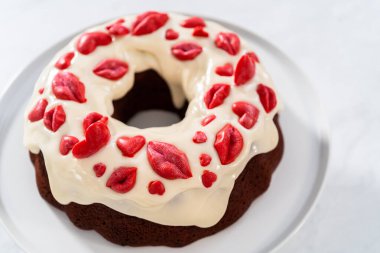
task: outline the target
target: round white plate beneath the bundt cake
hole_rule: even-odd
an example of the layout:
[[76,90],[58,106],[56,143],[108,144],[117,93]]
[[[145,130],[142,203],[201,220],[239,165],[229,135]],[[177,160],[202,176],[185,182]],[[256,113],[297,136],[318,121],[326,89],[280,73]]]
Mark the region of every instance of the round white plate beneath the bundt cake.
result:
[[67,252],[270,252],[304,221],[326,174],[328,136],[325,118],[310,82],[300,69],[261,37],[217,21],[250,41],[274,79],[285,109],[280,123],[285,153],[269,190],[229,228],[183,248],[121,247],[94,231],[77,229],[64,213],[38,194],[34,169],[22,144],[23,114],[43,67],[66,39],[30,63],[0,100],[0,218],[29,253]]

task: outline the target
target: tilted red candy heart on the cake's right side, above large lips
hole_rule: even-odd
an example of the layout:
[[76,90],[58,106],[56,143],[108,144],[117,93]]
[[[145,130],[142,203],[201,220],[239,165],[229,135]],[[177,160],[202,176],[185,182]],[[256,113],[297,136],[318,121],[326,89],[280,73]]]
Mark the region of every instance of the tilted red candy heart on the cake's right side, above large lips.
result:
[[232,111],[239,116],[239,123],[247,129],[256,124],[260,113],[256,106],[244,101],[235,102]]

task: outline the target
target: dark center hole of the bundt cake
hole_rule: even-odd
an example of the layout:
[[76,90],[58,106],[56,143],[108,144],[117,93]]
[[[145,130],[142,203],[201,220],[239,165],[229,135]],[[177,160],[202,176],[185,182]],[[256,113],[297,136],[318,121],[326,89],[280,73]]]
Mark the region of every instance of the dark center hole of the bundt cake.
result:
[[188,103],[177,109],[169,86],[154,70],[135,75],[132,89],[121,99],[113,101],[113,118],[138,128],[170,126],[180,122]]

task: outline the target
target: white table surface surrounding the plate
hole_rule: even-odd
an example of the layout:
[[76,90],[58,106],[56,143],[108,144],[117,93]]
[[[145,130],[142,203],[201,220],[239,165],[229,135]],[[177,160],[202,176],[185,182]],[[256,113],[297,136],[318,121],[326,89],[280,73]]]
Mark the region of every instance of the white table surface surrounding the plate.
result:
[[[249,27],[314,82],[331,127],[328,176],[316,208],[278,252],[380,252],[380,1],[0,0],[0,91],[53,43],[147,9]],[[1,226],[0,252],[22,252]]]

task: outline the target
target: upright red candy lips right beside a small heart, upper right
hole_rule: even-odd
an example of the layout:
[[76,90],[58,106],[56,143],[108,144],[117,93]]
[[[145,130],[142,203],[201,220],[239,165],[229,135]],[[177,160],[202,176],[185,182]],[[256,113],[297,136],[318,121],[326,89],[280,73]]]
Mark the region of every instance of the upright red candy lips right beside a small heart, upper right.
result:
[[236,65],[235,84],[239,86],[247,83],[253,78],[255,72],[256,66],[251,56],[248,54],[243,55]]

